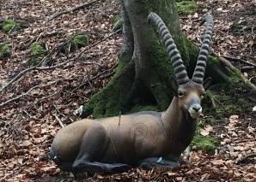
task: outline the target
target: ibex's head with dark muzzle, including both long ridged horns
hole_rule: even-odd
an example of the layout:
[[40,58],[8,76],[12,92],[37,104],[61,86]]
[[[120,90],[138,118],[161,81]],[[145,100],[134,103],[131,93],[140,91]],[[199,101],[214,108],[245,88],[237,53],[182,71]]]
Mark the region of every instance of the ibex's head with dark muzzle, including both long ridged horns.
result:
[[187,111],[191,118],[196,120],[202,113],[201,100],[203,98],[204,90],[208,88],[211,82],[210,78],[205,79],[204,81],[204,73],[213,27],[212,15],[207,14],[204,16],[203,21],[206,21],[206,30],[192,79],[189,79],[187,76],[186,67],[181,60],[180,52],[174,44],[174,39],[168,31],[168,27],[155,13],[150,13],[148,18],[158,27],[162,42],[168,50],[168,55],[174,67],[176,82],[172,83],[172,85],[175,91],[175,97],[179,98],[179,108],[184,112]]

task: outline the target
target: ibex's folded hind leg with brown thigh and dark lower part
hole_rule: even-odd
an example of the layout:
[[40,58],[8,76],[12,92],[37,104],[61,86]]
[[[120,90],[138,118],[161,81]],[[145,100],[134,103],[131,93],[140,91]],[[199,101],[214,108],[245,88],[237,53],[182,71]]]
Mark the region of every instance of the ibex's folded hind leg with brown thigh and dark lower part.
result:
[[99,123],[94,123],[84,133],[80,151],[72,167],[75,172],[123,172],[131,167],[122,163],[100,162],[109,144],[109,136]]

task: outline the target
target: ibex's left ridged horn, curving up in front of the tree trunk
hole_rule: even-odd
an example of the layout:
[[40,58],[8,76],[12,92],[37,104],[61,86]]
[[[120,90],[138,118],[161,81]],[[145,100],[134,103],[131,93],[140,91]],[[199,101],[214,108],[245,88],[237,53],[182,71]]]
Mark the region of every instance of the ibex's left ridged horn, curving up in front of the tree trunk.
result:
[[177,50],[174,39],[168,31],[168,27],[164,24],[159,15],[156,15],[155,13],[151,12],[148,16],[148,20],[153,21],[155,23],[155,26],[157,26],[160,31],[162,41],[165,44],[168,50],[168,55],[171,58],[178,85],[185,84],[186,82],[188,82],[189,78],[186,73],[186,68],[181,60],[179,50]]

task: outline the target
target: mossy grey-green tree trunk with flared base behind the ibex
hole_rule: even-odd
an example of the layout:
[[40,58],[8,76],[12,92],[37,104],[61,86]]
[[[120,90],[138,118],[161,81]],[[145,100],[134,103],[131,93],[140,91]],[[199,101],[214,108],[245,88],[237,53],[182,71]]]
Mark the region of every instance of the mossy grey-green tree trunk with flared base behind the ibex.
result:
[[[117,115],[141,106],[146,106],[147,110],[168,108],[173,96],[174,68],[155,26],[147,21],[150,12],[160,15],[168,26],[189,77],[195,68],[198,48],[180,31],[174,0],[121,0],[120,4],[124,45],[119,67],[108,85],[85,105],[83,116]],[[216,58],[209,56],[206,76],[218,82],[228,79],[227,69],[219,64]]]

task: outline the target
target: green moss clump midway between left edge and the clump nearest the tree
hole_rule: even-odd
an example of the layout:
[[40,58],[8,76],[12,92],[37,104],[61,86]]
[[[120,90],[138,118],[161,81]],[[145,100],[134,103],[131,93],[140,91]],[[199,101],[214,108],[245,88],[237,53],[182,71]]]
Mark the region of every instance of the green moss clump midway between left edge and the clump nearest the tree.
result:
[[46,48],[39,42],[34,42],[31,45],[31,58],[28,64],[31,66],[37,65],[41,61],[41,57],[46,55]]

